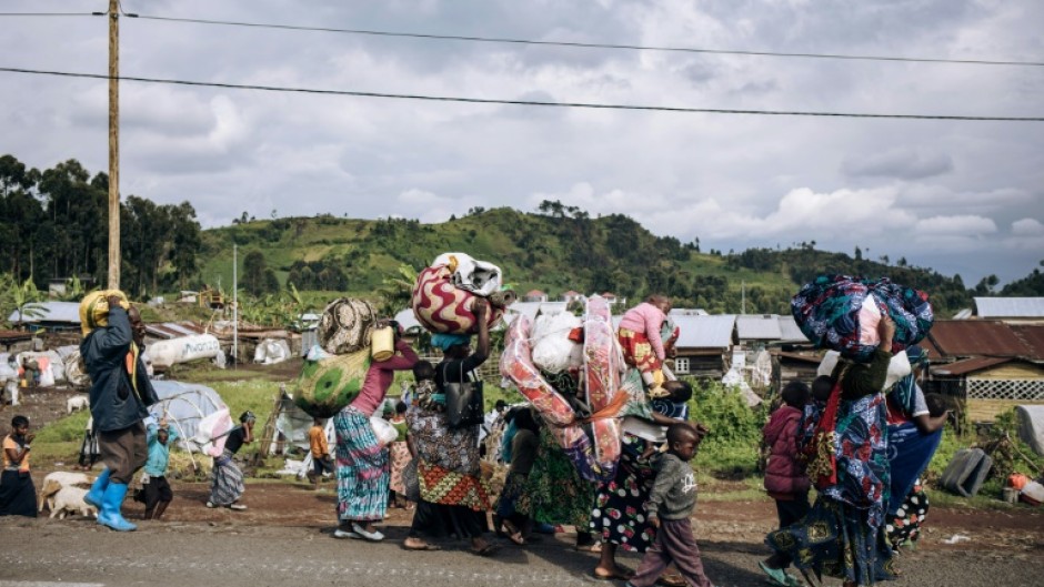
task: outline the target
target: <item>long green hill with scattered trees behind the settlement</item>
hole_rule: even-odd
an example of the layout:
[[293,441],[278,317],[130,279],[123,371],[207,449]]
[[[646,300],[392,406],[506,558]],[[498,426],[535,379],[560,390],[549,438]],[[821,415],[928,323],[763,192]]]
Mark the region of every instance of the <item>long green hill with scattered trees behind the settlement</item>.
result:
[[[439,224],[332,215],[237,223],[203,232],[200,279],[229,289],[237,244],[241,267],[247,255],[260,253],[279,284],[367,296],[396,275],[400,265],[419,270],[440,253],[460,251],[499,264],[520,294],[538,289],[555,297],[576,290],[634,298],[662,292],[677,307],[714,313],[740,312],[745,292],[749,313],[789,313],[797,287],[825,272],[887,276],[925,290],[943,317],[971,304],[960,277],[927,269],[890,266],[809,244],[735,254],[702,252],[696,243],[657,237],[624,215],[592,219],[558,202],[545,202],[541,210],[544,213],[476,209]],[[253,255],[253,262],[258,260]],[[251,279],[240,271],[241,283]]]

